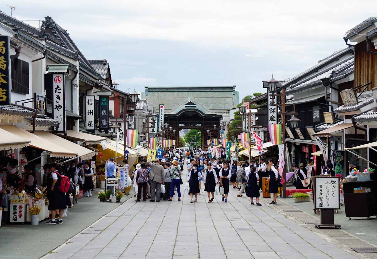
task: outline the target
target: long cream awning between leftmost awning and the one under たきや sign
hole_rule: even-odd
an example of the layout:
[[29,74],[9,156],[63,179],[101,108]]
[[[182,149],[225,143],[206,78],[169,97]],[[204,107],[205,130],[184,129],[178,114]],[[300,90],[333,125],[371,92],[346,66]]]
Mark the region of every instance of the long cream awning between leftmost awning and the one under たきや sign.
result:
[[70,151],[68,149],[65,149],[60,145],[55,144],[54,142],[43,139],[37,135],[34,135],[33,133],[18,128],[17,126],[0,126],[0,128],[8,132],[11,132],[23,139],[31,140],[29,145],[34,148],[50,151],[50,157],[77,157],[76,151]]

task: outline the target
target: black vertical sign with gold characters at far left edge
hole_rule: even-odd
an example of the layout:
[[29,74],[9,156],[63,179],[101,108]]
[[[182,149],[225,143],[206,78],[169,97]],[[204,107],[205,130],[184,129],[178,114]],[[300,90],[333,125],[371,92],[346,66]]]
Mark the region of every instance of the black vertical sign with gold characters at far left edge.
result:
[[0,36],[0,104],[11,103],[9,36]]

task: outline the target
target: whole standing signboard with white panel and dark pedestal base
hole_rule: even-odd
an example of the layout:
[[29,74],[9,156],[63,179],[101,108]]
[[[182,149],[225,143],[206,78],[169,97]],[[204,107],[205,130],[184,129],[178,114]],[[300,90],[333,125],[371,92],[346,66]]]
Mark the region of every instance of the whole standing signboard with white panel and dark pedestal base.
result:
[[321,224],[316,227],[335,227],[334,210],[340,209],[339,177],[316,177],[314,209],[321,210]]

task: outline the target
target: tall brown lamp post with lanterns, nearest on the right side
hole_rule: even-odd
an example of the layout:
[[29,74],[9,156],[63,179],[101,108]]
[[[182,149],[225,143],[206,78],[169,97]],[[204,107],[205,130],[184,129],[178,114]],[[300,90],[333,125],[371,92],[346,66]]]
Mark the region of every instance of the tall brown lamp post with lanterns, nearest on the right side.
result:
[[[300,121],[300,119],[297,119],[295,117],[295,114],[296,114],[296,111],[295,111],[295,107],[293,105],[293,113],[287,113],[285,111],[285,87],[282,87],[282,93],[281,94],[275,94],[275,92],[277,92],[277,85],[279,84],[279,82],[282,82],[282,81],[277,81],[274,79],[274,77],[272,77],[269,81],[267,81],[267,84],[268,84],[268,90],[270,91],[270,93],[273,95],[273,96],[281,96],[281,99],[282,99],[282,104],[274,104],[274,105],[279,105],[282,107],[282,110],[280,111],[280,114],[282,115],[282,143],[284,145],[283,147],[283,157],[284,157],[284,162],[286,162],[286,158],[285,158],[285,150],[287,148],[287,145],[285,143],[285,116],[287,115],[291,115],[292,118],[290,120],[288,120],[290,123],[291,123],[291,126],[295,126],[295,128],[297,127],[298,125],[298,122]],[[285,179],[285,175],[287,173],[287,170],[286,170],[286,166],[284,165],[283,167],[283,175],[282,175],[282,178],[286,181]],[[286,194],[286,190],[287,190],[287,184],[284,182],[283,184],[283,198],[287,198],[287,194]]]

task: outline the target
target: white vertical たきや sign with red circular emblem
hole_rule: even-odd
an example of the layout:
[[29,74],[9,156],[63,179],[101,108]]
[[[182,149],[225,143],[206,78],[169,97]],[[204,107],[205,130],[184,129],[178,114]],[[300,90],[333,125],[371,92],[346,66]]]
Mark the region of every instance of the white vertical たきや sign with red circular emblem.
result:
[[63,74],[52,75],[54,119],[59,122],[58,133],[66,133],[66,86]]

